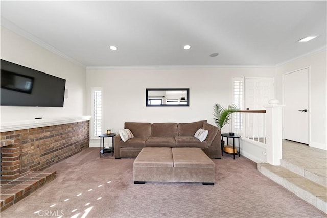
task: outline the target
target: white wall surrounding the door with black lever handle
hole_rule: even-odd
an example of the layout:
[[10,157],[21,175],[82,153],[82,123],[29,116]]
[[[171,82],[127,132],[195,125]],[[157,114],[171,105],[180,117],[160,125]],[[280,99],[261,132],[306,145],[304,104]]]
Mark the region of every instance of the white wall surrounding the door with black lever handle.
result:
[[299,58],[276,68],[277,98],[282,102],[282,75],[310,67],[309,145],[327,150],[327,58],[326,50]]

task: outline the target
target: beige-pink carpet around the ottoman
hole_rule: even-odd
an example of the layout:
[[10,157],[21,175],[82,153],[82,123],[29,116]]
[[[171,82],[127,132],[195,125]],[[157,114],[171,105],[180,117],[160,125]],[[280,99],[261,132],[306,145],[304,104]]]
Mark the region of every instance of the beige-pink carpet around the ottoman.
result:
[[88,148],[51,168],[57,178],[1,217],[326,217],[244,157],[215,162],[214,186],[133,183],[133,158]]

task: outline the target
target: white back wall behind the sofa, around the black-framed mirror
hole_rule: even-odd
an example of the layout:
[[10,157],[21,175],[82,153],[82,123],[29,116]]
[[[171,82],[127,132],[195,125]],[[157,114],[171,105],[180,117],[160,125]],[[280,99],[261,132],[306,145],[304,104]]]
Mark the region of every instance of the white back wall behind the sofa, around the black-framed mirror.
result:
[[[273,76],[275,68],[87,68],[87,114],[91,87],[103,88],[103,130],[117,133],[124,122],[213,121],[213,106],[231,103],[232,77]],[[146,107],[146,88],[190,88],[190,107]],[[224,127],[222,132],[228,132]]]

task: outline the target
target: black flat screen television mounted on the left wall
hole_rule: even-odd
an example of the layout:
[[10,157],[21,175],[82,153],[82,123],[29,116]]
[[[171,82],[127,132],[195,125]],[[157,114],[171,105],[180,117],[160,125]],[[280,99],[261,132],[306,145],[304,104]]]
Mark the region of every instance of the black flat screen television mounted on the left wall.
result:
[[63,107],[66,80],[1,59],[2,106]]

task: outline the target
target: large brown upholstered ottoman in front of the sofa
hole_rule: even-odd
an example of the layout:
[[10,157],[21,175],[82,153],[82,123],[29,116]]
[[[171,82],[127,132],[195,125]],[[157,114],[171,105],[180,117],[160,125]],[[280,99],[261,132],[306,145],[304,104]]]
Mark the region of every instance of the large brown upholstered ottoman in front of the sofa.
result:
[[215,164],[200,148],[145,147],[134,160],[134,183],[146,181],[214,185]]

